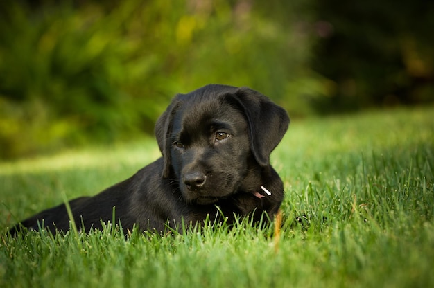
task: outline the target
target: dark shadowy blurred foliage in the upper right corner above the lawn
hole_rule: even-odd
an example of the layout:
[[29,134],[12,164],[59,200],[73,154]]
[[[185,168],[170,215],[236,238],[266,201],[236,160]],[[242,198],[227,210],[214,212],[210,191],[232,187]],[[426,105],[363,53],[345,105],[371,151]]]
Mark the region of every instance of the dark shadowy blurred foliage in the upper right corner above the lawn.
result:
[[322,113],[434,101],[432,1],[315,1],[311,66],[330,80]]

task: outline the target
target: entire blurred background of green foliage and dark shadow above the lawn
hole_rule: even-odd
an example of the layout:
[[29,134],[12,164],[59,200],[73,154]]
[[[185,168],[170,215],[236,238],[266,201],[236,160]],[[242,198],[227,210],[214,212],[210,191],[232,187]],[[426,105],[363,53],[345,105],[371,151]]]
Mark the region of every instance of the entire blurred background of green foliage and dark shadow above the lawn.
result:
[[293,118],[434,100],[434,1],[1,1],[0,159],[153,134],[175,93]]

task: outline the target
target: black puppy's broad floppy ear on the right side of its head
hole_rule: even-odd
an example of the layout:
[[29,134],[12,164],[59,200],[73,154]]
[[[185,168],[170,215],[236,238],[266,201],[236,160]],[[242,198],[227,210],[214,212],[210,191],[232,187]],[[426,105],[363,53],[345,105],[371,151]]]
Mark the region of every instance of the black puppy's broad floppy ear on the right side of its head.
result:
[[235,99],[248,120],[250,149],[254,158],[263,167],[270,165],[270,153],[288,129],[288,114],[266,96],[248,87],[238,89]]

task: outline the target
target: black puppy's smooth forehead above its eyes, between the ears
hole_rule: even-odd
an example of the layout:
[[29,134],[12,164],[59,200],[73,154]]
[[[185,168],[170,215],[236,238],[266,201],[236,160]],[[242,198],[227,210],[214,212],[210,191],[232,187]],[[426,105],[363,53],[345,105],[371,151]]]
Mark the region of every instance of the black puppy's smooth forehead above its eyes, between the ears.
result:
[[243,112],[225,101],[224,98],[191,97],[186,99],[177,110],[173,131],[194,131],[215,123],[226,123],[241,129],[247,125]]

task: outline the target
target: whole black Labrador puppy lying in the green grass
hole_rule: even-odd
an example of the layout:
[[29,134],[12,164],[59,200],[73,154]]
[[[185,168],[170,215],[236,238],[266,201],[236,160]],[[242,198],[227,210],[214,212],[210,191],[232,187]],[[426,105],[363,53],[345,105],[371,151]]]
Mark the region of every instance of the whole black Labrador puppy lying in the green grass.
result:
[[[273,217],[284,197],[270,153],[288,129],[286,111],[248,88],[207,85],[178,94],[155,125],[163,156],[130,179],[94,197],[69,202],[78,227],[89,231],[112,221],[131,230],[162,233],[167,226],[235,215]],[[44,210],[10,230],[67,231],[64,204]]]

